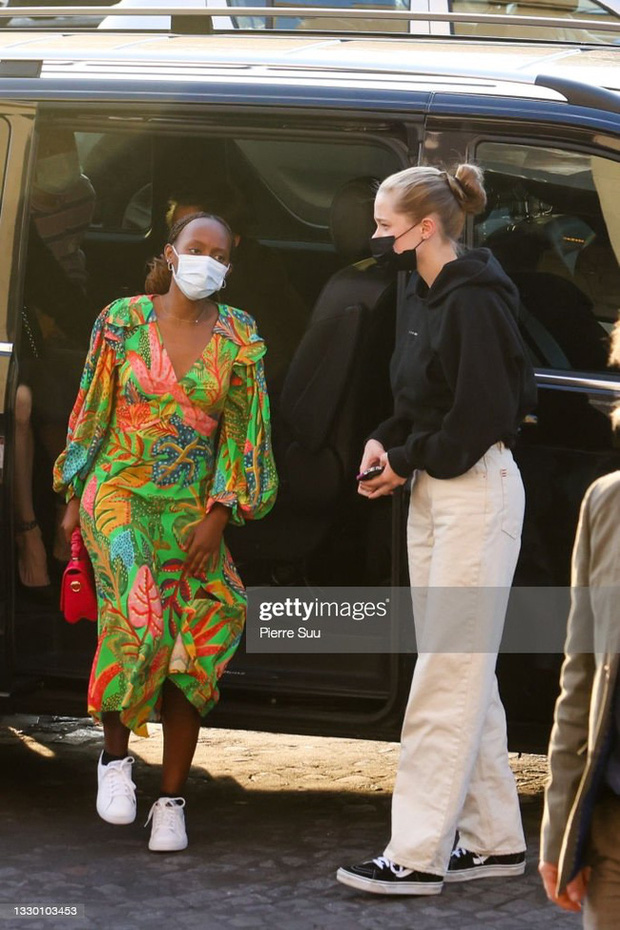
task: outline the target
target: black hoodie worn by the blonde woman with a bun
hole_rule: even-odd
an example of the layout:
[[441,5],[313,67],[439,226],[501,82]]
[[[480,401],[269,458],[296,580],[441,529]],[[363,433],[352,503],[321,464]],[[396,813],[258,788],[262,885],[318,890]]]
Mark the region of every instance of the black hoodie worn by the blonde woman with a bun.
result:
[[390,365],[394,416],[372,434],[401,477],[456,478],[494,443],[515,444],[536,405],[519,293],[488,249],[409,281]]

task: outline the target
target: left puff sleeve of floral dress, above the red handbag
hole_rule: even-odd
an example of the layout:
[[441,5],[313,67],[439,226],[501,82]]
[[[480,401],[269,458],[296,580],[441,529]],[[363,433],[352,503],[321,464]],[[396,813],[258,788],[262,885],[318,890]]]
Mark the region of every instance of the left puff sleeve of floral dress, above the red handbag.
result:
[[54,465],[54,490],[67,501],[81,497],[85,479],[101,448],[114,404],[120,336],[109,323],[111,307],[93,326],[80,389],[69,417],[67,443]]

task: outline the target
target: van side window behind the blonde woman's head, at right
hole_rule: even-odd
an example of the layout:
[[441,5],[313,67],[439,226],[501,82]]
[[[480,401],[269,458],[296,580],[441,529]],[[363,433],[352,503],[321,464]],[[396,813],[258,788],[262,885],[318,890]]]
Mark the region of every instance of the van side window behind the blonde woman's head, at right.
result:
[[620,309],[620,163],[579,152],[483,142],[488,202],[474,241],[521,295],[536,362],[605,371]]

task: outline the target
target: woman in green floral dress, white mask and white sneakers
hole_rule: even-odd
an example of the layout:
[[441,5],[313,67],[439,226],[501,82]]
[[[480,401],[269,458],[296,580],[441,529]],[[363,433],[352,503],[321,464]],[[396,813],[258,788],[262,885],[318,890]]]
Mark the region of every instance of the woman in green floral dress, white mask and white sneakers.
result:
[[161,719],[161,796],[149,814],[149,848],[160,851],[187,846],[180,795],[245,620],[222,534],[229,520],[264,516],[277,489],[265,344],[248,314],[211,299],[231,248],[223,220],[187,217],[147,280],[157,293],[101,313],[54,473],[65,531],[79,523],[97,584],[97,811],[135,819],[129,734]]

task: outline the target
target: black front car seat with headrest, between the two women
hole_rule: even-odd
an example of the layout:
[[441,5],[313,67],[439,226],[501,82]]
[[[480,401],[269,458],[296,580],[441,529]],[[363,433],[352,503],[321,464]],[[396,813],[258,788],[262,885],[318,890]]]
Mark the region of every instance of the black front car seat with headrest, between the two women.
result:
[[373,178],[356,178],[334,197],[331,236],[349,264],[323,287],[274,411],[274,510],[260,523],[227,531],[239,561],[296,561],[314,550],[357,498],[365,439],[391,413],[396,283],[393,273],[362,258],[370,252],[376,187]]

